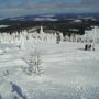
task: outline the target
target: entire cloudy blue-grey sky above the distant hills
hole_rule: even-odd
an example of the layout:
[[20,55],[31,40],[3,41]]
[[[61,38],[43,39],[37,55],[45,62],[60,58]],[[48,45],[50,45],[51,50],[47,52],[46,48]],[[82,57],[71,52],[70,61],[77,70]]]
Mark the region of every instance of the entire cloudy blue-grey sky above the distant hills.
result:
[[99,12],[99,0],[0,0],[0,16]]

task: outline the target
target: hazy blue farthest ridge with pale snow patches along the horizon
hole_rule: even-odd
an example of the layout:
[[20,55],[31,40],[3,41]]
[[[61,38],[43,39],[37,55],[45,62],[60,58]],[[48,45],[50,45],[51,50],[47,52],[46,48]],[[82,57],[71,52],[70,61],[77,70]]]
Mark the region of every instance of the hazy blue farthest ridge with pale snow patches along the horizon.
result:
[[97,19],[99,20],[99,12],[96,13],[47,13],[47,14],[34,14],[34,15],[24,15],[8,18],[2,20],[32,20],[32,21],[57,21],[57,20],[67,20],[67,19]]

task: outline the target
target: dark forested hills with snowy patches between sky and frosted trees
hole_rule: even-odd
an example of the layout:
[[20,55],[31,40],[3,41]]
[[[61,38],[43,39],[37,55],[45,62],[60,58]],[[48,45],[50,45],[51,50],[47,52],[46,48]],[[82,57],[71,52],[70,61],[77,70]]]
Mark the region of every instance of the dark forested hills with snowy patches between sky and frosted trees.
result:
[[[0,28],[0,32],[14,32],[29,30],[35,26],[44,26],[44,30],[61,31],[70,35],[72,33],[84,34],[85,30],[99,25],[99,13],[47,13],[25,16],[15,16],[1,19],[0,25],[9,25]],[[73,31],[73,30],[78,31]]]

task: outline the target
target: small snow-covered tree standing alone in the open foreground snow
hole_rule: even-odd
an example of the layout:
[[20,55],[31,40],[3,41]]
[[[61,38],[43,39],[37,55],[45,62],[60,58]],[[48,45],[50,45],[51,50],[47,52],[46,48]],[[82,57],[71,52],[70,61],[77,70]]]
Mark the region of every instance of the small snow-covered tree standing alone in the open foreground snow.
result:
[[42,67],[42,57],[41,54],[37,50],[34,52],[31,52],[28,59],[25,61],[29,65],[28,67],[28,74],[42,74],[43,73],[43,67]]

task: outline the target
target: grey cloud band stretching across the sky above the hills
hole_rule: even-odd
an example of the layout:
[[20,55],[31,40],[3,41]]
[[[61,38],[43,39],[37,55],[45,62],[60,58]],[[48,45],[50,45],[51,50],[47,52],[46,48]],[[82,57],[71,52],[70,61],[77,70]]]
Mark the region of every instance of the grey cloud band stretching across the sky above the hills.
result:
[[[6,1],[6,0],[4,0]],[[65,0],[64,0],[65,1]],[[99,11],[98,0],[82,0],[81,2],[40,2],[33,3],[28,0],[20,4],[12,4],[9,0],[6,8],[0,9],[3,16],[26,15],[35,13],[53,12],[96,12]]]

